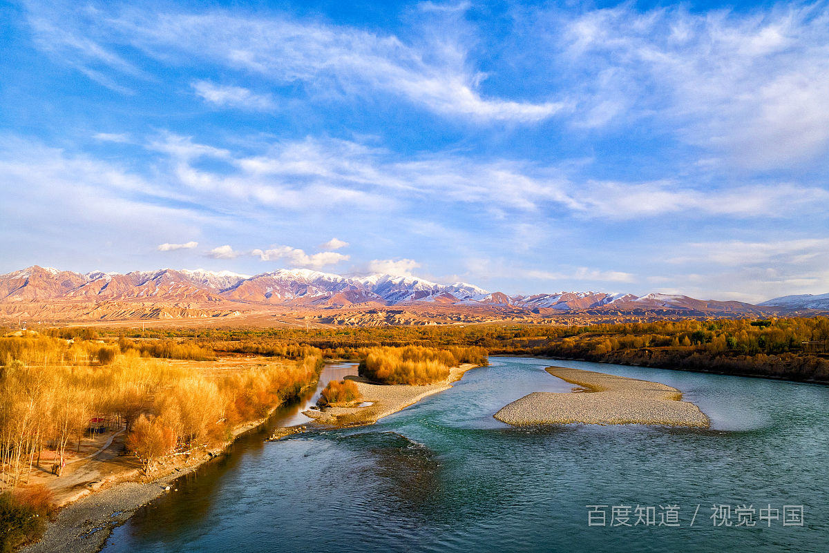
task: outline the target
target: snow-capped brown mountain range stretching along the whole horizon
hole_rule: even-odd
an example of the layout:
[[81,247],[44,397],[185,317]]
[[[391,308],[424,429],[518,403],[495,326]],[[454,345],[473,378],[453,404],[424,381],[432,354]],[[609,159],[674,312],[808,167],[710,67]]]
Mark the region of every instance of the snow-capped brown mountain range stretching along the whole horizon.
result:
[[[676,313],[719,314],[725,316],[759,315],[764,307],[739,301],[705,301],[688,296],[633,294],[596,291],[560,291],[531,296],[508,296],[487,292],[465,282],[439,284],[415,276],[342,276],[309,269],[279,269],[255,276],[205,269],[158,269],[125,274],[94,271],[78,273],[54,268],[28,267],[0,275],[0,303],[21,305],[41,302],[92,302],[94,305],[120,305],[139,302],[146,309],[153,305],[234,311],[267,310],[268,305],[343,308],[350,306],[422,305],[434,308],[453,305],[458,309],[500,310],[541,316],[584,312],[597,313]],[[783,309],[829,309],[829,294],[823,296],[785,296],[764,302]],[[97,307],[96,307],[97,308]],[[68,309],[68,308],[67,308]],[[7,312],[12,312],[7,309]],[[15,308],[14,312],[19,312]]]

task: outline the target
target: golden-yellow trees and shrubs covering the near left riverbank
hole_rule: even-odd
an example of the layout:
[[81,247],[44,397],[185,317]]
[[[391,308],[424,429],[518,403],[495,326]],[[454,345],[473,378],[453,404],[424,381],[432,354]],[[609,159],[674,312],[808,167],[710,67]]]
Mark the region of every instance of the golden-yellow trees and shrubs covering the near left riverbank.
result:
[[41,335],[0,338],[0,551],[42,530],[51,492],[27,486],[32,472],[64,471],[71,448],[102,427],[123,427],[128,449],[149,475],[168,454],[229,441],[235,426],[258,420],[317,381],[322,357],[265,359],[244,370],[162,362],[143,355],[215,359],[200,344],[130,340],[101,344]]

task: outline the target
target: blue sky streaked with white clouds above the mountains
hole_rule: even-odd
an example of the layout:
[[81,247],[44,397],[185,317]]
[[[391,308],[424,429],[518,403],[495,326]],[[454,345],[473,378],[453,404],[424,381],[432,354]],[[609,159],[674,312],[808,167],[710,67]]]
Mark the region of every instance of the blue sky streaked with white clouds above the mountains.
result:
[[829,291],[827,2],[0,2],[0,272]]

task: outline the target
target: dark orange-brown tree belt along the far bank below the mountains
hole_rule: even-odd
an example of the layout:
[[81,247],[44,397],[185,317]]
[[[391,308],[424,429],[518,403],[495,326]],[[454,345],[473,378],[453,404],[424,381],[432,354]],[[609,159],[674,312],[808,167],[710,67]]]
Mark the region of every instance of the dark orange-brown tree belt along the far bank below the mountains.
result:
[[[80,329],[54,330],[82,332]],[[100,330],[110,337],[119,331]],[[657,368],[829,382],[829,318],[677,320],[615,325],[444,325],[318,329],[148,329],[138,341],[186,340],[216,352],[292,357],[315,347],[360,360],[371,348],[478,346],[492,354],[542,355]]]

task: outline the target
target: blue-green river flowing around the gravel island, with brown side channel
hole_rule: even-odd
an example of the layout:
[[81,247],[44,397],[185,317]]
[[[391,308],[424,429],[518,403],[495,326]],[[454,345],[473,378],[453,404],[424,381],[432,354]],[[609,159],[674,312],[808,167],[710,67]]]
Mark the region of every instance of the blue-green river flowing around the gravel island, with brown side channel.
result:
[[[829,387],[490,361],[376,425],[245,436],[116,528],[103,551],[829,551]],[[712,426],[512,428],[492,418],[529,392],[568,392],[550,365],[663,382]],[[355,371],[329,365],[320,386]],[[298,410],[316,393],[270,425],[303,422]]]

